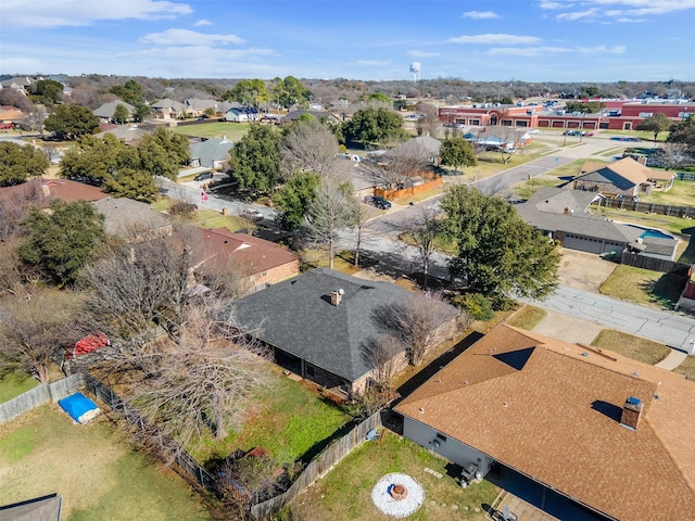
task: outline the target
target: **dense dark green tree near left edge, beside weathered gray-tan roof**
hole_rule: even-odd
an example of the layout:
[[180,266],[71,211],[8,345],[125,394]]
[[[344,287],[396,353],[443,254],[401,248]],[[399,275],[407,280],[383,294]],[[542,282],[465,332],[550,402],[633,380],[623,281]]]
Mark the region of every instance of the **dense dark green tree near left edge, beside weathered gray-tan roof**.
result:
[[96,258],[105,240],[104,217],[88,201],[66,203],[55,199],[49,208],[30,208],[23,221],[29,234],[20,245],[20,256],[53,282],[68,285]]

